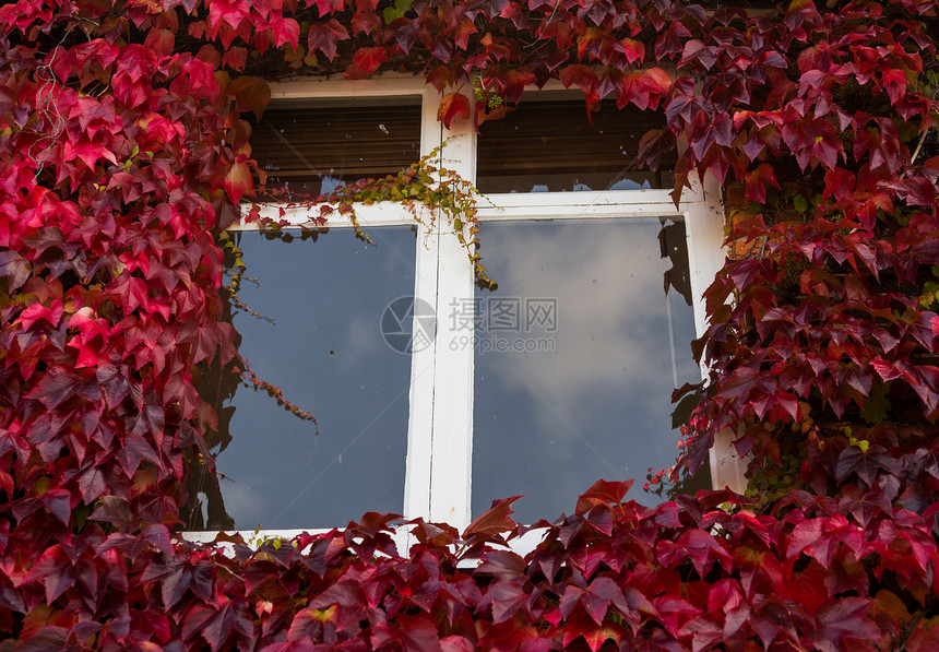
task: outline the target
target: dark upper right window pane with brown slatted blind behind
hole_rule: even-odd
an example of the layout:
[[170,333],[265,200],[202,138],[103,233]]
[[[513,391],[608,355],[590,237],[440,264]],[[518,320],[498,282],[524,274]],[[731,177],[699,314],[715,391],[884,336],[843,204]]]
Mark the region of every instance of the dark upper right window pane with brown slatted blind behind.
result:
[[[592,121],[591,121],[592,120]],[[639,141],[664,115],[602,102],[531,102],[479,127],[476,186],[483,192],[671,188],[674,151],[654,173],[639,169]]]

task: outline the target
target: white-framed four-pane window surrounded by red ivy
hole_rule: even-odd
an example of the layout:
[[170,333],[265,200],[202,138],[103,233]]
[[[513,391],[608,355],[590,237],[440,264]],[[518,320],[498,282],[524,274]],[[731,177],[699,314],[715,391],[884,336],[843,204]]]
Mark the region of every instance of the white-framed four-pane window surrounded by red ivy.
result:
[[[700,378],[688,343],[703,332],[700,296],[723,263],[723,215],[713,201],[716,188],[706,195],[700,185],[686,190],[676,210],[668,175],[637,168],[637,130],[641,134],[656,120],[654,114],[626,116],[602,106],[591,125],[582,100],[567,97],[526,97],[477,135],[468,120],[444,129],[436,120],[439,96],[420,80],[275,88],[275,106],[285,112],[272,114],[259,137],[268,144],[255,140],[255,155],[298,192],[300,183],[316,193],[316,185],[407,165],[369,158],[378,144],[357,149],[369,139],[399,135],[405,125],[412,135],[395,141],[404,159],[442,143],[447,167],[475,179],[486,194],[480,252],[500,287],[477,291],[456,238],[437,223],[414,227],[395,204],[358,211],[377,248],[336,233],[347,226],[341,220],[331,220],[332,233],[316,242],[284,245],[241,234],[249,273],[274,265],[277,285],[284,283],[273,293],[262,278],[242,298],[262,315],[280,311],[278,325],[286,329],[255,335],[265,322],[249,327],[236,315],[241,352],[260,376],[314,413],[320,434],[292,435],[273,417],[260,417],[245,422],[253,442],[217,444],[226,477],[216,502],[224,500],[229,517],[246,515],[216,519],[215,525],[260,524],[289,534],[341,526],[378,510],[463,527],[494,498],[524,493],[530,496],[516,503],[516,517],[533,521],[570,512],[577,495],[598,477],[635,477],[631,497],[650,500],[639,488],[646,469],[675,458],[671,389]],[[335,131],[323,142],[316,139],[324,130],[311,135],[317,130],[310,122],[330,119],[336,107],[346,120],[340,133],[349,132],[342,139],[357,140],[348,150],[334,142]],[[408,118],[416,108],[417,119]],[[282,132],[278,120],[295,132]],[[356,152],[360,166],[333,164]],[[325,153],[324,163],[311,162],[318,153]],[[297,210],[288,218],[307,221]],[[254,253],[258,261],[251,260],[254,248],[266,249]],[[251,305],[255,299],[264,309]],[[361,312],[359,300],[367,306]],[[391,320],[384,328],[383,319]],[[395,328],[399,340],[389,340]],[[411,340],[408,329],[418,339]],[[280,353],[263,349],[274,345]],[[344,366],[346,357],[356,357],[358,366]],[[253,410],[235,407],[233,418],[242,418],[243,410],[247,419]],[[348,423],[341,420],[346,417]],[[238,475],[278,488],[270,498],[275,507],[250,511],[238,478],[228,478],[226,467],[236,466],[226,455],[235,458],[242,446]],[[286,488],[289,476],[297,479]],[[335,510],[313,514],[318,502],[340,496]],[[211,527],[207,502],[202,521]]]

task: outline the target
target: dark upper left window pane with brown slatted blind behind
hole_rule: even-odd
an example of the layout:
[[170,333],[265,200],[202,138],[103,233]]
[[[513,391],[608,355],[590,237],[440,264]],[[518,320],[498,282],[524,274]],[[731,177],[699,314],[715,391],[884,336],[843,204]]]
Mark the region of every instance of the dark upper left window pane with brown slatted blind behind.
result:
[[253,126],[252,155],[268,185],[312,197],[396,174],[420,157],[420,100],[271,108]]

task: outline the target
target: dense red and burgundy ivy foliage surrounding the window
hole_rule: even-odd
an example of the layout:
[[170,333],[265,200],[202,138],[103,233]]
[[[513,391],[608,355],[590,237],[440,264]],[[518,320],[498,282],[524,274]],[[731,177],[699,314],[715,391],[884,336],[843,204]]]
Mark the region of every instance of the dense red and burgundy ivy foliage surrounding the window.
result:
[[[935,650],[939,2],[21,0],[0,7],[0,648]],[[523,532],[390,515],[234,555],[174,533],[233,355],[215,236],[254,193],[258,74],[423,74],[440,118],[559,79],[714,174],[715,432],[753,501],[599,482]],[[461,86],[479,87],[475,111]],[[491,116],[496,117],[496,116]],[[477,565],[478,562],[478,565]]]

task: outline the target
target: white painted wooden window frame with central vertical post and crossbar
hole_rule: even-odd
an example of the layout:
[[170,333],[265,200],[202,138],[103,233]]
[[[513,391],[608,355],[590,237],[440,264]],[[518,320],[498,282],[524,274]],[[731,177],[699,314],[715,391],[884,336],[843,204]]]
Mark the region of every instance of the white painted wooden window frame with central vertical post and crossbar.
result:
[[[546,90],[562,90],[548,86]],[[468,93],[474,106],[472,90]],[[536,92],[533,92],[536,93]],[[441,147],[443,164],[463,178],[475,181],[476,133],[472,119],[456,118],[449,128],[437,120],[440,94],[419,78],[383,76],[372,80],[301,80],[272,85],[272,103],[278,100],[344,99],[417,96],[421,103],[420,156]],[[671,191],[617,190],[584,192],[533,192],[487,194],[479,202],[478,217],[486,222],[508,220],[596,220],[635,217],[677,217],[686,228],[690,269],[692,308],[697,336],[706,328],[702,294],[723,266],[725,250],[724,213],[721,187],[710,175],[693,180],[681,193],[676,209]],[[356,205],[362,229],[413,225],[414,217],[402,205],[382,202]],[[318,214],[318,211],[314,213]],[[311,222],[304,209],[287,209],[281,215],[277,206],[266,206],[262,216],[285,218],[299,227]],[[471,522],[473,472],[473,365],[472,346],[449,346],[454,337],[466,337],[465,330],[442,319],[452,301],[475,296],[473,265],[466,250],[441,220],[425,220],[416,238],[414,296],[433,307],[437,336],[433,345],[412,354],[407,459],[403,514],[406,519],[424,518],[447,522],[463,530]],[[285,228],[290,228],[287,226]],[[350,227],[348,218],[333,214],[329,227]],[[253,230],[257,225],[236,225],[231,230]],[[485,263],[485,261],[484,261]],[[416,328],[416,327],[415,327]],[[703,369],[702,369],[703,374]],[[729,486],[742,490],[744,464],[730,443],[733,437],[717,438],[711,450],[711,477],[714,487]],[[533,451],[533,454],[537,454]],[[586,488],[586,487],[584,487]],[[575,496],[571,496],[573,506]],[[552,518],[559,514],[545,514]],[[342,526],[344,523],[336,523]],[[288,538],[300,532],[323,529],[263,530],[261,537]],[[241,531],[247,541],[257,535]],[[187,532],[191,541],[212,541],[214,532]],[[405,544],[402,536],[400,542]]]

